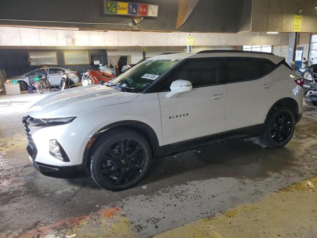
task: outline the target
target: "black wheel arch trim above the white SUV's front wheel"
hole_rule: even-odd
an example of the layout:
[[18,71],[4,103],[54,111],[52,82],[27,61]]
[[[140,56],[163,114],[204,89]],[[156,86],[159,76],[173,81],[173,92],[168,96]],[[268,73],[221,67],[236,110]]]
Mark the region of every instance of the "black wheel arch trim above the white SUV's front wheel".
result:
[[125,129],[130,129],[130,130],[139,132],[149,141],[149,144],[152,150],[152,156],[154,158],[162,156],[164,154],[163,147],[159,146],[159,139],[157,137],[157,134],[155,133],[154,129],[151,126],[141,121],[123,120],[123,121],[114,122],[104,126],[103,128],[99,129],[91,137],[91,139],[88,141],[87,145],[85,146],[85,150],[84,150],[84,155],[83,155],[84,166],[86,167],[89,166],[91,151],[93,151],[94,145],[96,145],[98,138],[101,135],[105,134],[106,132],[114,128],[125,128]]

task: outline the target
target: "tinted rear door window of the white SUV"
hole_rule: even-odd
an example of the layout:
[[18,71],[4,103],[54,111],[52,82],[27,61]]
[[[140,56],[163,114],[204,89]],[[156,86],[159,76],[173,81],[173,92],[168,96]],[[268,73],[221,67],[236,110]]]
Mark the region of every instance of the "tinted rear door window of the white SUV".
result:
[[262,58],[226,58],[223,77],[225,82],[238,82],[250,79],[256,79],[272,71],[275,64]]

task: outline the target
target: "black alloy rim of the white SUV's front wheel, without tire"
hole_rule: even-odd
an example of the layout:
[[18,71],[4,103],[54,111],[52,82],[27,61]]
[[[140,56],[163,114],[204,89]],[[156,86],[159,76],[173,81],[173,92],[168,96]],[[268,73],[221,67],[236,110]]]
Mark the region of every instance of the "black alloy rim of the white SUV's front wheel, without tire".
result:
[[145,167],[145,158],[145,150],[139,142],[121,139],[104,151],[100,173],[111,184],[125,185],[140,176]]

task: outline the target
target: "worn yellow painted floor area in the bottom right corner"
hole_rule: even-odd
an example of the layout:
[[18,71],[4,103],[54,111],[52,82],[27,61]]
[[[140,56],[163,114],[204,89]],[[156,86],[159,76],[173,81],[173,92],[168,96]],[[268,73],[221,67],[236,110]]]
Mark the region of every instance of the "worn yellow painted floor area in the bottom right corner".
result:
[[317,238],[317,177],[154,238]]

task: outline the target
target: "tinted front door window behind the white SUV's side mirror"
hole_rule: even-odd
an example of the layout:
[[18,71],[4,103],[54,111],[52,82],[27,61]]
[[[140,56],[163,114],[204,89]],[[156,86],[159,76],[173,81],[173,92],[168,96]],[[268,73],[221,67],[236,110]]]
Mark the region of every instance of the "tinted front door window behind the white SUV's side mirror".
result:
[[170,84],[177,79],[188,80],[193,87],[217,84],[219,83],[219,67],[218,58],[188,59],[167,77],[162,90],[170,90]]

